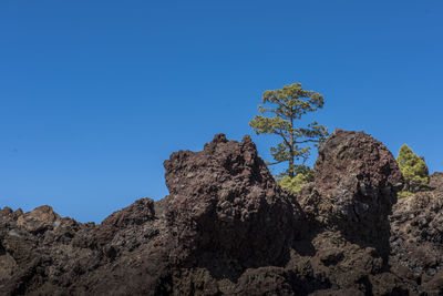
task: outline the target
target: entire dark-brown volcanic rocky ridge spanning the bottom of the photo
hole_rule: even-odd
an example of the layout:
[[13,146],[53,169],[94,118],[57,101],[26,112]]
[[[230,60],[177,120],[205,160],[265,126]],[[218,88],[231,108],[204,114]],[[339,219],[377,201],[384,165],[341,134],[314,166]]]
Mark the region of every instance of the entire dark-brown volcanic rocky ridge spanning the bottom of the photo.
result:
[[282,191],[248,136],[164,163],[171,195],[102,224],[0,210],[0,295],[443,295],[443,174],[402,174],[364,133],[336,131],[316,182]]

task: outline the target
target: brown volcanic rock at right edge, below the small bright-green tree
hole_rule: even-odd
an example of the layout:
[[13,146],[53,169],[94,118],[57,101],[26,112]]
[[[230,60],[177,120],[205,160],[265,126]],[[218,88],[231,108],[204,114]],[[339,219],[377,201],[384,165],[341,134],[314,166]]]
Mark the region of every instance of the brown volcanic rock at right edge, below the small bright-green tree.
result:
[[391,215],[390,265],[410,287],[443,292],[443,174],[431,176],[433,191],[400,198]]

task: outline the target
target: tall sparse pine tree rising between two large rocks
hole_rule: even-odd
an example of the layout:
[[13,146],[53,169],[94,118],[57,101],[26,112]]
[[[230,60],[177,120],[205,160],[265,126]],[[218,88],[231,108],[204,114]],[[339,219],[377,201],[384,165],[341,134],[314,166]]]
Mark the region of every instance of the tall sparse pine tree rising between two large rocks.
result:
[[249,125],[256,134],[275,134],[280,137],[281,142],[270,149],[275,162],[269,165],[288,162],[288,169],[281,177],[292,178],[299,173],[306,174],[309,167],[305,163],[311,146],[328,136],[328,129],[317,122],[306,126],[298,124],[302,115],[323,106],[323,96],[303,90],[300,83],[295,83],[285,85],[281,90],[266,91],[262,94],[262,103],[266,106],[258,105],[261,114],[256,115]]

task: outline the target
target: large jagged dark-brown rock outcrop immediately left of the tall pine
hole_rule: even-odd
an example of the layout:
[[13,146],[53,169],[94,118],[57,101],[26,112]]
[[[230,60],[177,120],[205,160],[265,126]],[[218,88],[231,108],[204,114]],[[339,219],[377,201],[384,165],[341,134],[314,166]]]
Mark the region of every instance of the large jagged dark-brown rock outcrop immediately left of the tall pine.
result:
[[300,213],[249,136],[238,143],[218,134],[202,152],[173,153],[164,165],[171,192],[165,216],[189,264],[206,261],[219,269],[231,262],[226,268],[234,273],[288,257]]

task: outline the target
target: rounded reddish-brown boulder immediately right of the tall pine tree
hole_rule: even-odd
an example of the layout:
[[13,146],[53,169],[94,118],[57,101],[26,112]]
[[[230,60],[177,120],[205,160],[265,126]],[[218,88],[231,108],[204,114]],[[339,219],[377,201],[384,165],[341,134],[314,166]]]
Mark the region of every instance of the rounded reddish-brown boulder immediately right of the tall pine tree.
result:
[[352,239],[389,236],[388,215],[403,185],[392,153],[363,132],[336,130],[318,150],[313,191],[301,202],[328,228]]

